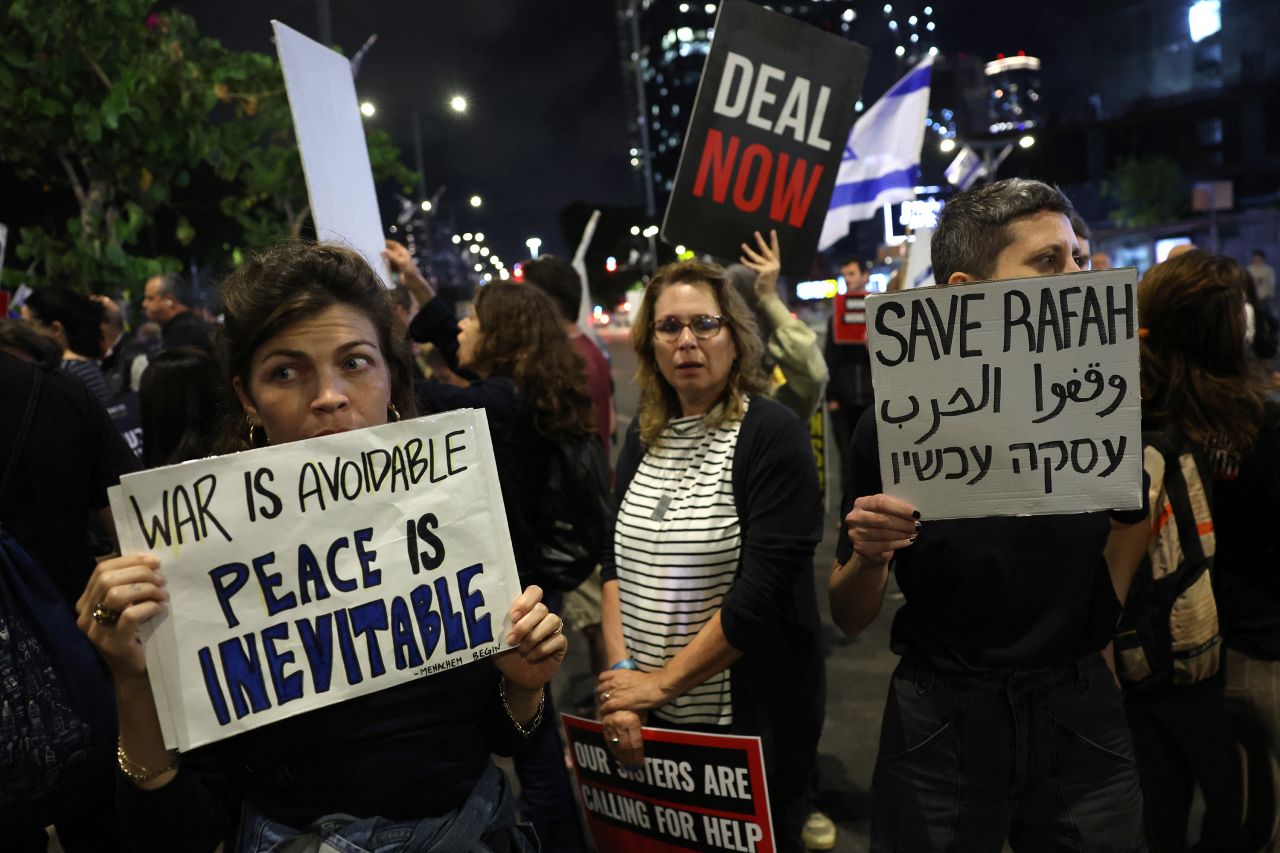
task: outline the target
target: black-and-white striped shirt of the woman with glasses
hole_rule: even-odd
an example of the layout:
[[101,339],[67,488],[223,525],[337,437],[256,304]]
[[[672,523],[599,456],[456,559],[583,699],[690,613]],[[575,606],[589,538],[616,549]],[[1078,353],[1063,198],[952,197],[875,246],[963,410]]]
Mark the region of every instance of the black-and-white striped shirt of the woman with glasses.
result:
[[[708,429],[701,415],[672,419],[622,498],[613,538],[622,635],[644,671],[685,648],[733,583],[742,551],[732,482],[741,425]],[[728,670],[654,715],[677,724],[732,724]]]

